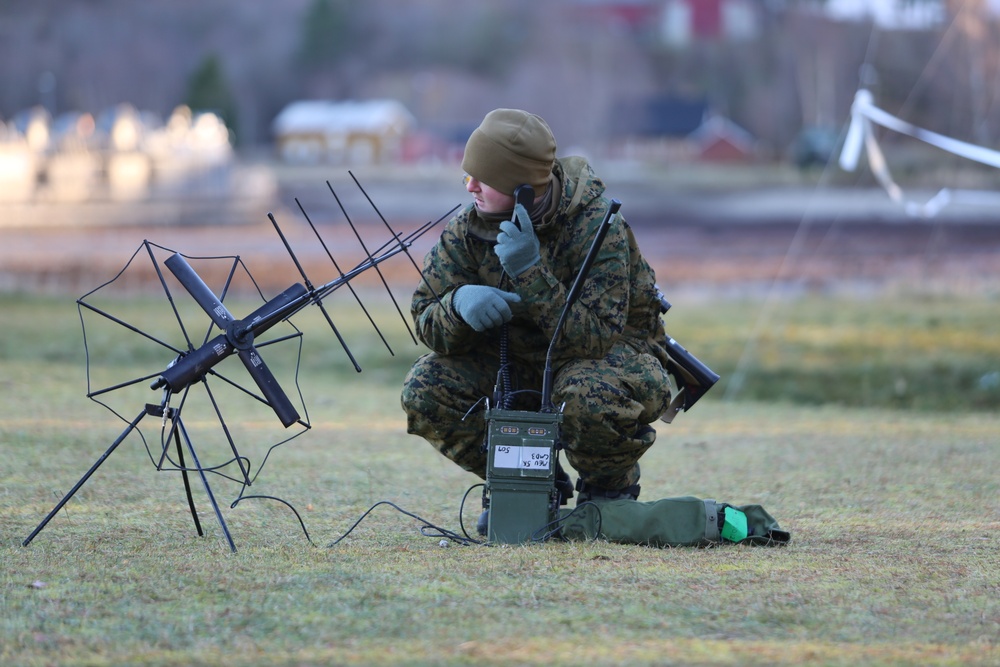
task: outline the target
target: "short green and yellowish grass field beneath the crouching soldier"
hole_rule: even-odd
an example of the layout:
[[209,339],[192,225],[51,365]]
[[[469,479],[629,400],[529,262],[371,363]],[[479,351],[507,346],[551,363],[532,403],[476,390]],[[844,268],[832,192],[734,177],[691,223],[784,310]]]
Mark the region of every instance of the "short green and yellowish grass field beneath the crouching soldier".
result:
[[[84,396],[71,298],[0,297],[0,664],[1000,664],[996,306],[812,297],[769,307],[755,328],[760,303],[675,302],[670,333],[724,379],[661,425],[643,498],[760,503],[792,542],[664,550],[444,548],[386,504],[330,546],[382,501],[457,531],[478,480],[405,433],[398,390],[418,349],[401,324],[386,328],[390,357],[356,309],[334,310],[357,374],[306,312],[312,428],[247,491],[288,504],[231,508],[239,485],[211,477],[233,553],[200,482],[204,537],[180,475],[158,472],[135,434],[21,545],[126,422]],[[108,307],[161,326],[145,298]],[[88,326],[94,382],[169,362],[135,334]],[[266,352],[282,377],[294,345]],[[282,431],[214,384],[256,471]],[[126,420],[159,399],[148,382],[111,394]],[[226,460],[198,408],[185,410],[203,464]],[[158,453],[159,421],[140,428]]]

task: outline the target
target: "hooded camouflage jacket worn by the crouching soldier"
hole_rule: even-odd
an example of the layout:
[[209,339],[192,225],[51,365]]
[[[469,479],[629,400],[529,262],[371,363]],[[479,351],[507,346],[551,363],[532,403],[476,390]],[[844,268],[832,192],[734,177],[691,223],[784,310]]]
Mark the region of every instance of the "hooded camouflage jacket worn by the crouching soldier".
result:
[[[543,220],[533,221],[541,261],[517,277],[505,276],[493,252],[494,241],[476,231],[483,229],[484,221],[474,205],[447,223],[424,258],[426,282],[417,288],[411,305],[417,336],[427,347],[439,354],[467,353],[482,346],[499,349],[500,327],[477,332],[452,305],[455,290],[462,285],[499,286],[521,297],[520,303],[511,304],[511,354],[541,367],[566,297],[610,206],[604,182],[585,159],[561,158],[553,172],[554,183],[561,185],[558,205]],[[556,364],[560,359],[603,358],[619,340],[666,364],[654,283],[652,268],[619,214],[563,324],[554,348]]]

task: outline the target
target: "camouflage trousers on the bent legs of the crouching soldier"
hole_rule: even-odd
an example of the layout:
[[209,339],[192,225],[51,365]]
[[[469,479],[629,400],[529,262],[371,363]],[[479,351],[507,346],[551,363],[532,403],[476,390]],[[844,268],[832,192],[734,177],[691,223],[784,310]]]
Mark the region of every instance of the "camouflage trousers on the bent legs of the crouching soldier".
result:
[[[512,358],[514,410],[537,410],[542,367]],[[426,354],[403,382],[409,433],[422,436],[459,466],[486,477],[483,399],[492,400],[499,355]],[[563,410],[562,443],[580,478],[604,489],[639,481],[639,459],[653,444],[650,426],[670,402],[666,371],[650,354],[617,343],[604,359],[579,359],[556,369],[552,398]],[[533,402],[533,404],[532,404]]]

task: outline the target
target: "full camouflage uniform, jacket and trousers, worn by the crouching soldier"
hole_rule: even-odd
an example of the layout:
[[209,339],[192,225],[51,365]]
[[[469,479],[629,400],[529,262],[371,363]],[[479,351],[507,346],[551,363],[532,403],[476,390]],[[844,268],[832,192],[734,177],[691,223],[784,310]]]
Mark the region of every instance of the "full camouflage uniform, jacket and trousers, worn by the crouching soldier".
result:
[[[473,408],[493,396],[502,328],[475,331],[452,298],[459,287],[473,284],[520,295],[506,325],[514,385],[521,390],[512,407],[537,410],[550,339],[610,204],[604,183],[583,158],[557,160],[553,174],[559,201],[533,221],[541,261],[515,278],[506,276],[493,251],[496,229],[470,205],[448,222],[425,257],[430,287],[421,283],[413,296],[417,336],[432,352],[417,360],[404,381],[408,431],[484,478],[485,424],[482,410]],[[650,424],[670,400],[654,280],[619,215],[555,344],[552,394],[556,406],[565,403],[566,457],[584,482],[599,488],[617,490],[638,481],[639,458],[656,438]]]

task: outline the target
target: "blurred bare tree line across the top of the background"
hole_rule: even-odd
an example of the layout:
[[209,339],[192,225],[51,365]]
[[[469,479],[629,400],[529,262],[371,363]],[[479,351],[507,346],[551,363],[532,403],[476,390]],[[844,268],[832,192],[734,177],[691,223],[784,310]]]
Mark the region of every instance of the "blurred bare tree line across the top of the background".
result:
[[455,140],[517,106],[562,146],[600,150],[635,129],[623,105],[674,96],[706,100],[779,157],[803,127],[843,127],[867,87],[891,113],[996,145],[996,15],[986,0],[906,1],[942,20],[892,30],[832,20],[821,0],[749,0],[755,34],[679,48],[661,21],[597,0],[0,0],[0,118],[187,103],[252,147],[295,99],[392,97]]

